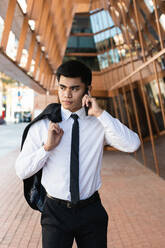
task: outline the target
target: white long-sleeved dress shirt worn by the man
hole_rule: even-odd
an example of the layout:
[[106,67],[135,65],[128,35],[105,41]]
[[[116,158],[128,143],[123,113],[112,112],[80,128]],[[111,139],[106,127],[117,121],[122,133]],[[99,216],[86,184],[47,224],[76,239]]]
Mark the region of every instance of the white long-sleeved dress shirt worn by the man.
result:
[[[16,174],[25,179],[43,168],[41,183],[53,197],[71,200],[70,153],[73,119],[69,110],[61,108],[62,122],[59,126],[64,134],[59,145],[45,151],[49,120],[34,123],[28,132],[15,168]],[[111,145],[120,151],[134,152],[140,145],[138,135],[118,119],[103,111],[99,117],[86,116],[85,109],[76,112],[79,116],[79,190],[80,199],[90,197],[101,186],[101,163],[103,147]]]

